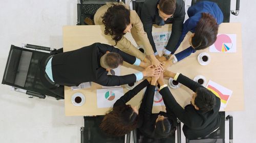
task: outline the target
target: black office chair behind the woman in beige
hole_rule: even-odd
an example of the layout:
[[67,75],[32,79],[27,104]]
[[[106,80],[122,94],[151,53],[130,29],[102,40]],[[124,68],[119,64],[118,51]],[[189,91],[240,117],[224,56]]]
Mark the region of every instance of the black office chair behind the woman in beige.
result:
[[[121,0],[78,0],[77,1],[77,25],[92,25],[96,11],[106,2],[120,2]],[[122,0],[125,3],[125,0]],[[89,19],[87,21],[87,19]],[[92,22],[90,22],[92,21]]]

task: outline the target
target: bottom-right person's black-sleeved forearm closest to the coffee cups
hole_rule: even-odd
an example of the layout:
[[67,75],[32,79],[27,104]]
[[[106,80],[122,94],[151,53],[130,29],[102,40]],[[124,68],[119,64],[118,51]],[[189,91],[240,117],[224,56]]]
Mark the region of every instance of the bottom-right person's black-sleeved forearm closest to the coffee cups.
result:
[[180,82],[181,84],[185,85],[186,87],[188,87],[190,90],[192,90],[194,92],[196,92],[197,88],[199,88],[199,87],[204,88],[198,82],[196,82],[182,74],[179,74],[177,81]]

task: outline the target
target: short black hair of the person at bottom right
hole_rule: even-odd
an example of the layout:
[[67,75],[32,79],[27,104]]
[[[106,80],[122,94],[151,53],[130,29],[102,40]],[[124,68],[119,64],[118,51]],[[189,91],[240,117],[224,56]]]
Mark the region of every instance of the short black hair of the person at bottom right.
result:
[[196,93],[195,104],[199,110],[207,112],[214,108],[216,105],[216,96],[214,93],[206,88],[198,88]]

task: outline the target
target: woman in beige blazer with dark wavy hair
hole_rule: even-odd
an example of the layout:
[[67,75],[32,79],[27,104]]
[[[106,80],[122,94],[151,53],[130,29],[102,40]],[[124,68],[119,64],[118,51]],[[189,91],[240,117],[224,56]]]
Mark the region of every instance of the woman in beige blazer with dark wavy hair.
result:
[[[122,2],[120,3],[106,3],[100,7],[94,15],[94,23],[96,25],[105,25],[105,35],[109,35],[115,40],[116,45],[122,51],[130,53],[142,61],[149,62],[146,55],[150,57],[151,64],[156,67],[162,67],[162,63],[157,60],[154,55],[153,48],[144,32],[143,24],[134,10],[125,8]],[[135,27],[136,34],[142,41],[146,55],[137,49],[129,40],[123,35],[131,32],[131,28]]]

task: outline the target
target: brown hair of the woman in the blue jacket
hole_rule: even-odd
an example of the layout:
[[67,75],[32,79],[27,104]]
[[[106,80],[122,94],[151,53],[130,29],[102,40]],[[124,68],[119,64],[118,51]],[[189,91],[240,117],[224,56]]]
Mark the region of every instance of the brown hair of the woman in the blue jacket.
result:
[[214,44],[217,39],[218,28],[219,25],[212,15],[202,13],[202,17],[195,29],[195,35],[191,40],[193,47],[196,50],[201,50]]

